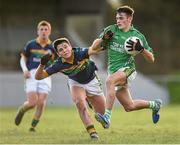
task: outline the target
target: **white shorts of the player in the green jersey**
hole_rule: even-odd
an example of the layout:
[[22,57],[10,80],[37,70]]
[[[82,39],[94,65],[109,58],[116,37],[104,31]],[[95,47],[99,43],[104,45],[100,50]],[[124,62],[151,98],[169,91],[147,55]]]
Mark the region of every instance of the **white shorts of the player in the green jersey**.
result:
[[[128,70],[128,74],[126,72],[126,70]],[[127,76],[127,84],[128,86],[131,85],[132,81],[136,78],[136,75],[137,75],[137,72],[134,70],[134,69],[131,69],[131,68],[128,68],[128,67],[125,67],[125,68],[120,68],[118,71],[123,71],[126,73],[126,76]],[[121,89],[123,86],[116,86],[115,87],[115,90],[119,90]]]

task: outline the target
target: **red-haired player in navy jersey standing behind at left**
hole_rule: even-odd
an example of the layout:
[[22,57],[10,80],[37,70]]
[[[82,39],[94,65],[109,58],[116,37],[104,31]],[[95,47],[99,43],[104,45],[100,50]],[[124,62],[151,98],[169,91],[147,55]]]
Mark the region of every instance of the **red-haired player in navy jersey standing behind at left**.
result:
[[[21,53],[20,66],[25,79],[25,91],[27,100],[19,108],[15,118],[15,124],[19,125],[26,111],[36,107],[34,117],[32,119],[30,131],[35,131],[40,117],[45,108],[48,93],[51,91],[51,78],[47,77],[43,80],[35,79],[35,71],[40,63],[41,57],[47,53],[52,54],[51,60],[54,58],[54,48],[51,44],[49,36],[51,34],[51,25],[47,21],[39,22],[37,26],[36,39],[27,42]],[[48,66],[47,64],[46,66]]]

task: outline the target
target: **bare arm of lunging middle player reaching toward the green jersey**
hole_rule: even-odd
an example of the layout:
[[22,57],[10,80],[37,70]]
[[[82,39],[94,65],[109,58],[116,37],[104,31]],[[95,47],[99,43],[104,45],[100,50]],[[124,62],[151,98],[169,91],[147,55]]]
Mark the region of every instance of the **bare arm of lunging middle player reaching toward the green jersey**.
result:
[[95,39],[93,44],[88,49],[88,54],[93,55],[103,50],[103,47],[101,45],[102,42],[103,42],[102,39]]

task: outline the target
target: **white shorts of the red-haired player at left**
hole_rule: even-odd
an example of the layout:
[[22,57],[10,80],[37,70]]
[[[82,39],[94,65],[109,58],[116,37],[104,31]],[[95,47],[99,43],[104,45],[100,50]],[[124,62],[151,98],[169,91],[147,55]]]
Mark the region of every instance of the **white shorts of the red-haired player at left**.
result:
[[35,73],[36,70],[30,71],[31,77],[25,80],[25,91],[28,92],[38,92],[38,93],[49,93],[51,91],[51,77],[47,77],[43,80],[36,80]]

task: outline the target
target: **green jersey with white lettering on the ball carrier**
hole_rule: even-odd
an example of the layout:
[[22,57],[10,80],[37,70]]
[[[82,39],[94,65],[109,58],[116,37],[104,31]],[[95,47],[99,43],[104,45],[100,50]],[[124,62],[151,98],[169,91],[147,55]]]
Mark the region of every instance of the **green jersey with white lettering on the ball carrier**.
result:
[[113,74],[121,68],[131,68],[135,70],[134,57],[127,54],[124,48],[124,43],[129,37],[138,37],[142,41],[143,47],[153,53],[153,50],[149,47],[144,35],[133,26],[131,26],[128,32],[123,32],[116,24],[110,25],[103,30],[99,37],[102,38],[104,33],[108,30],[111,30],[114,33],[112,39],[103,42],[104,49],[107,49],[108,51],[109,74]]

